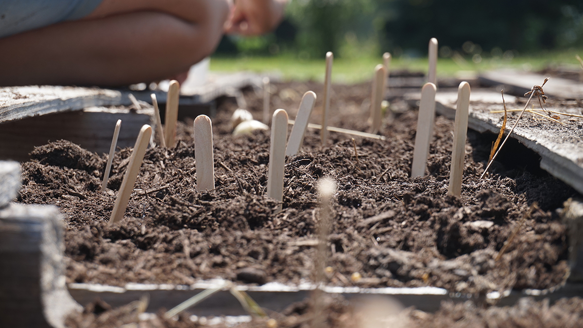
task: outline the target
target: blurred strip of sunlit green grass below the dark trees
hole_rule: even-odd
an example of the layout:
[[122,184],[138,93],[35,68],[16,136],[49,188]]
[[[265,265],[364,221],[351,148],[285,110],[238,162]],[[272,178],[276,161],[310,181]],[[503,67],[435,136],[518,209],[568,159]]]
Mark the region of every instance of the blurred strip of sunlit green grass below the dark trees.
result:
[[[491,69],[513,68],[525,71],[540,71],[557,65],[579,65],[575,55],[583,56],[583,49],[567,51],[547,51],[536,55],[515,55],[512,58],[485,57],[478,62],[472,57],[456,56],[439,58],[438,76],[454,76],[459,71],[482,72]],[[474,58],[477,59],[478,58]],[[382,58],[359,57],[353,59],[336,58],[332,69],[335,83],[358,83],[370,81],[374,67],[381,64]],[[292,55],[276,57],[212,57],[210,70],[216,72],[251,71],[258,74],[279,76],[283,80],[323,81],[324,58],[321,60],[298,60]],[[427,58],[393,58],[391,70],[408,69],[413,72],[427,72]]]

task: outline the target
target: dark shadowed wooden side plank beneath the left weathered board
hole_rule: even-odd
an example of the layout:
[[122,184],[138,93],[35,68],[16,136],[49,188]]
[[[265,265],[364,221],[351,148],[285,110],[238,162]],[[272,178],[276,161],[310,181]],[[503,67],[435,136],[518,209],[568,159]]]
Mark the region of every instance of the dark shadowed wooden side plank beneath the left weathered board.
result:
[[131,147],[142,125],[154,124],[153,109],[92,107],[2,123],[0,159],[27,160],[34,146],[58,139],[67,139],[99,154],[108,153],[118,119],[123,124],[117,145]]

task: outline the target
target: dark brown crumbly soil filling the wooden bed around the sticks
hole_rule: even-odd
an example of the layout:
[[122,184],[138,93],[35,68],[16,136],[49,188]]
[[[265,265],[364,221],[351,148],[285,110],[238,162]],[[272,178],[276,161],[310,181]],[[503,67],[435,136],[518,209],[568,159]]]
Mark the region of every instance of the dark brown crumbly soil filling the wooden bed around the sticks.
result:
[[[272,108],[289,109],[315,83],[276,85]],[[331,125],[364,131],[367,85],[335,86]],[[245,93],[261,117],[261,95]],[[317,104],[319,106],[319,102]],[[392,109],[403,109],[394,102]],[[66,222],[68,282],[124,285],[127,282],[192,284],[222,277],[240,283],[310,280],[319,218],[317,180],[338,182],[334,196],[332,285],[361,287],[434,286],[483,294],[510,288],[545,289],[564,282],[566,229],[555,209],[575,192],[544,172],[508,163],[479,180],[491,139],[469,131],[462,197],[447,196],[452,122],[437,117],[429,176],[409,178],[416,110],[387,123],[386,141],[331,134],[319,146],[308,130],[305,146],[287,159],[283,211],[265,197],[269,134],[230,135],[236,105],[224,101],[213,119],[216,189],[197,193],[192,124],[181,126],[173,149],[147,151],[135,192],[120,225],[108,225],[131,149],[115,154],[107,193],[100,193],[106,156],[67,141],[36,148],[23,163],[19,201],[56,204]],[[405,108],[406,109],[406,108]],[[315,109],[317,122],[320,109]],[[518,147],[518,145],[517,145]],[[509,148],[511,149],[511,148]],[[511,151],[511,150],[509,150]],[[494,261],[529,206],[526,219],[500,261]],[[304,242],[304,243],[303,243]],[[239,274],[254,268],[261,280]],[[360,280],[351,280],[360,273]],[[245,278],[247,277],[247,278]]]

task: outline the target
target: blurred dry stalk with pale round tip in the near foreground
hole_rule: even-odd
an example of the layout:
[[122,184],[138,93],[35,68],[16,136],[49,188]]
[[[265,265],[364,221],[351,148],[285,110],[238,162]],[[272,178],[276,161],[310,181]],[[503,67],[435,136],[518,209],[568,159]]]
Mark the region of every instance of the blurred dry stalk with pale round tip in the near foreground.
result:
[[314,263],[315,288],[312,292],[312,328],[324,326],[324,279],[326,277],[326,263],[328,262],[328,235],[331,229],[332,197],[336,193],[336,182],[329,177],[318,181],[320,198],[320,215],[317,223],[318,248]]

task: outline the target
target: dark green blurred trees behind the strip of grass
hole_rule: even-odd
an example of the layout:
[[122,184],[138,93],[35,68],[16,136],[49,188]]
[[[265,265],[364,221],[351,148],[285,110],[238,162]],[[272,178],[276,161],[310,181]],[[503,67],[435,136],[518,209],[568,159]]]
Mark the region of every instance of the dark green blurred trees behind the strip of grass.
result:
[[[583,47],[581,0],[293,0],[286,20],[266,36],[223,39],[219,55],[322,58],[427,54],[502,57]],[[508,53],[510,51],[510,53]]]

